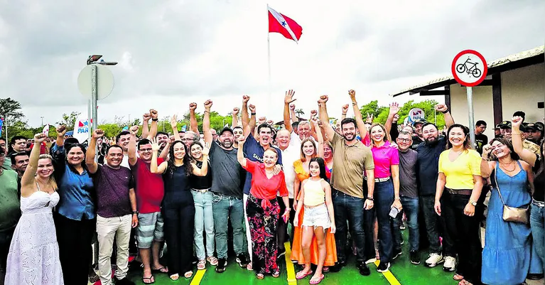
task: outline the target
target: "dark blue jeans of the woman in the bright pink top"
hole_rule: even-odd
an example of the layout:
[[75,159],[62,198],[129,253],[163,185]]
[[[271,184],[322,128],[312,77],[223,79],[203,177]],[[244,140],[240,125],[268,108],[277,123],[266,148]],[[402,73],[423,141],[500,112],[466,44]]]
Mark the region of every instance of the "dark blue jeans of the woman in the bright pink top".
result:
[[[379,223],[379,254],[380,262],[388,263],[392,259],[394,251],[394,239],[392,235],[392,219],[389,215],[394,203],[394,183],[392,179],[374,183],[374,210],[377,213]],[[399,214],[398,214],[399,216]],[[399,224],[397,225],[399,231]]]

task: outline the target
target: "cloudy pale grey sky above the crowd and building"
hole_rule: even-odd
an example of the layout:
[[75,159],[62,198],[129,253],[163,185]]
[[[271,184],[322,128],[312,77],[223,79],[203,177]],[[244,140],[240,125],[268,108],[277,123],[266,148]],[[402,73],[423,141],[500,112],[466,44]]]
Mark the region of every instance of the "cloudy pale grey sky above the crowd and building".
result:
[[[270,35],[266,4],[303,27],[298,44]],[[0,97],[21,102],[28,123],[87,112],[77,76],[88,55],[118,61],[99,122],[114,116],[183,114],[214,101],[227,114],[250,95],[259,114],[281,119],[284,90],[308,114],[330,95],[340,115],[355,89],[360,104],[448,75],[460,50],[494,60],[544,44],[543,0],[442,1],[0,1]],[[418,99],[404,95],[398,102]],[[350,113],[349,113],[350,114]]]

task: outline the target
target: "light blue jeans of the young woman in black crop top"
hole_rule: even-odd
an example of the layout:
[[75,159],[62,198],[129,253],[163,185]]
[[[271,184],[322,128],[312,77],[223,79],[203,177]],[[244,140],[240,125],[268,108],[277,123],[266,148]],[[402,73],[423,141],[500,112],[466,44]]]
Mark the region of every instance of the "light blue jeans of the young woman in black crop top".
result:
[[[212,214],[212,193],[191,190],[195,201],[195,253],[199,260],[214,256],[214,216]],[[206,232],[206,251],[203,231]]]

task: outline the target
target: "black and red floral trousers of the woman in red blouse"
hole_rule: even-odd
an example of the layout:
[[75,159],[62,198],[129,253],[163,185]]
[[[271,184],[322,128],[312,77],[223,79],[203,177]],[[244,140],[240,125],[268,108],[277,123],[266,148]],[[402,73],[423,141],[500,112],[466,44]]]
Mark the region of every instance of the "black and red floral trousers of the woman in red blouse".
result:
[[271,206],[261,208],[261,199],[249,195],[246,203],[252,236],[252,267],[256,274],[274,274],[279,271],[276,264],[278,255],[276,227],[278,227],[280,206],[276,198],[269,202]]

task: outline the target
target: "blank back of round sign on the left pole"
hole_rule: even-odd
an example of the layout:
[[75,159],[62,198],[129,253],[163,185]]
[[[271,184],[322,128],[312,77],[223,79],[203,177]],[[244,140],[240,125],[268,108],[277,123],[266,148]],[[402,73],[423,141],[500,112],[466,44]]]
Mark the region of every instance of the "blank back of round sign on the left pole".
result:
[[[91,99],[92,97],[92,66],[87,65],[80,72],[80,75],[77,77],[77,88],[80,90],[80,93]],[[104,65],[95,65],[97,67],[97,100],[102,100],[114,89],[114,75],[112,71],[106,68]]]

